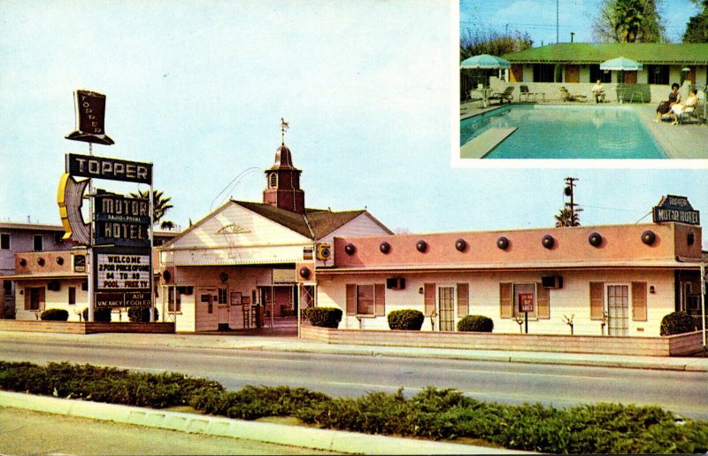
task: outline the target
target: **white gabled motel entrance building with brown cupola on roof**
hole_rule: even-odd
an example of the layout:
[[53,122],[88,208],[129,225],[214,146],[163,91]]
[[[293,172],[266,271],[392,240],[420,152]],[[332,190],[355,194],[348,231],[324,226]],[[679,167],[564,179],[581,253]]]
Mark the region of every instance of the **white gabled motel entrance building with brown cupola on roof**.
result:
[[390,236],[366,210],[309,209],[301,170],[282,143],[262,203],[229,200],[159,250],[161,321],[178,332],[267,328],[315,305],[315,270],[335,236]]

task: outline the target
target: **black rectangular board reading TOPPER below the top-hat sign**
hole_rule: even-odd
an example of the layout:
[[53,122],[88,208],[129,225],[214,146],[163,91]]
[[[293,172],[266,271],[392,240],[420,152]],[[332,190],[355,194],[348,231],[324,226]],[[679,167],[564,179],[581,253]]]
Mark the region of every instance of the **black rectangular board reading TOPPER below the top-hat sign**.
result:
[[152,184],[152,163],[68,153],[65,169],[73,176]]

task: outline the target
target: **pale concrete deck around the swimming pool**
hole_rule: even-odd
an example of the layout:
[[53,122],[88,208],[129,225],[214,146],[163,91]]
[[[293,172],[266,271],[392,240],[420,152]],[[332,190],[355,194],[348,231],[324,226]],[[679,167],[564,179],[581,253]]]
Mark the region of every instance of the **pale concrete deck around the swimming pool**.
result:
[[[513,103],[519,104],[519,103]],[[558,104],[558,105],[586,105],[593,103],[538,103],[538,104]],[[504,104],[507,105],[507,104]],[[616,103],[605,103],[604,105],[619,105]],[[500,107],[494,104],[488,108],[480,108],[478,103],[467,103],[460,105],[460,120],[479,115],[484,112],[493,111]],[[669,158],[687,159],[701,158],[708,159],[708,126],[696,123],[672,125],[671,122],[655,122],[657,104],[622,104],[635,110],[650,134],[654,136],[656,142],[666,152]],[[464,146],[463,146],[464,147]]]

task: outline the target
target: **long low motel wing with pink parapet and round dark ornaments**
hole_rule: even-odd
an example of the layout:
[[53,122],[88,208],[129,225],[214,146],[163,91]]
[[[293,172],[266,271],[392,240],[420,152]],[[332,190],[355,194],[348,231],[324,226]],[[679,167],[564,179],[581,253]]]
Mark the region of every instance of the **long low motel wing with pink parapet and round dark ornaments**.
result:
[[335,236],[334,262],[317,268],[317,305],[342,309],[349,329],[388,329],[391,311],[415,309],[424,331],[456,331],[479,314],[495,333],[519,334],[527,317],[529,334],[570,335],[572,321],[575,335],[659,336],[666,314],[701,314],[701,240],[699,226],[675,221]]

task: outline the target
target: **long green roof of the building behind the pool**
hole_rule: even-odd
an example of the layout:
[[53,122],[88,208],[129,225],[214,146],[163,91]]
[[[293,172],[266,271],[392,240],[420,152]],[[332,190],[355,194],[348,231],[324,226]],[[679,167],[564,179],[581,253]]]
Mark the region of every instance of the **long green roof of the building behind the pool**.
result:
[[600,64],[618,57],[644,65],[708,65],[708,43],[558,43],[502,56],[512,64]]

